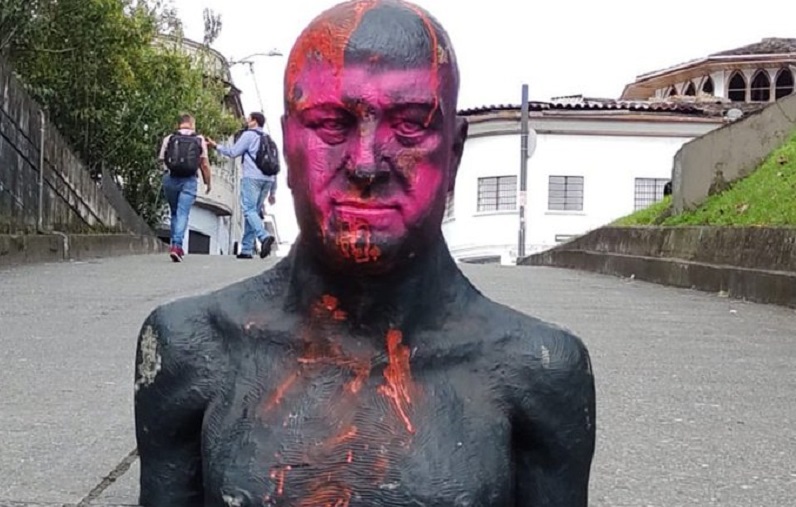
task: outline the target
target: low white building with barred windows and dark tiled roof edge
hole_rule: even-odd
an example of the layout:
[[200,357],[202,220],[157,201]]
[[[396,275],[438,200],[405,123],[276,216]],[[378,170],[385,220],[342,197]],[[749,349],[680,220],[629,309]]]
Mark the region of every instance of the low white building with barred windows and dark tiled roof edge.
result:
[[[532,103],[526,255],[584,234],[663,196],[683,143],[725,120],[689,104],[568,97]],[[520,108],[461,111],[470,136],[448,196],[443,234],[467,262],[516,262],[519,238]]]

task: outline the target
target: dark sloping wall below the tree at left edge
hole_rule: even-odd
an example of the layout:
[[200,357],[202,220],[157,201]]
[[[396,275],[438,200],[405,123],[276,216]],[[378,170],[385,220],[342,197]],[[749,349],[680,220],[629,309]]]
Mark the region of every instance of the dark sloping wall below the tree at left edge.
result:
[[93,179],[61,134],[42,124],[41,108],[3,61],[0,93],[0,234],[36,232],[42,169],[42,231],[152,234],[112,178]]

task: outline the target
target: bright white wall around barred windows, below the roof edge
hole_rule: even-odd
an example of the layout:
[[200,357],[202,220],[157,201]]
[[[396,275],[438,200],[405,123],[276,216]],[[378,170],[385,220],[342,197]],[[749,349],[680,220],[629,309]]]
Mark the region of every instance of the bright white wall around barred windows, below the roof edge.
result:
[[[629,132],[633,131],[630,125]],[[632,213],[635,178],[670,178],[676,151],[689,137],[540,134],[528,161],[526,254],[550,248],[556,235],[579,235]],[[443,233],[458,259],[516,256],[519,211],[478,213],[478,178],[517,175],[520,138],[470,139],[456,180],[454,217]],[[549,211],[549,176],[583,176],[583,211]]]

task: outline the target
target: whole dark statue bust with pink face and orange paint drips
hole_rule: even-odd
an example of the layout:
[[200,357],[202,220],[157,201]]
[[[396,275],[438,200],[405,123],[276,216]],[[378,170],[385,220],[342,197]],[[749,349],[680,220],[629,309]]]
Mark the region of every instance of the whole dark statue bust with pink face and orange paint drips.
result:
[[587,505],[587,349],[484,297],[442,237],[458,88],[412,4],[342,3],[302,32],[282,118],[300,234],[144,322],[142,506]]

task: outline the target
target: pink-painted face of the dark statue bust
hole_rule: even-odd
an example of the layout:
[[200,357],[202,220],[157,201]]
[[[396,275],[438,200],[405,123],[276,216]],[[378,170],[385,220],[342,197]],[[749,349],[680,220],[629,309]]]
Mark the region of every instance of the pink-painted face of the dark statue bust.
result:
[[290,186],[302,228],[341,257],[377,261],[410,230],[439,227],[453,122],[436,82],[433,68],[314,63],[299,75],[284,123]]

